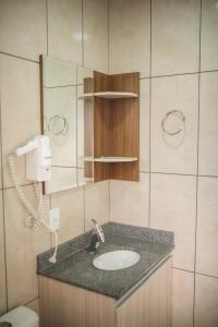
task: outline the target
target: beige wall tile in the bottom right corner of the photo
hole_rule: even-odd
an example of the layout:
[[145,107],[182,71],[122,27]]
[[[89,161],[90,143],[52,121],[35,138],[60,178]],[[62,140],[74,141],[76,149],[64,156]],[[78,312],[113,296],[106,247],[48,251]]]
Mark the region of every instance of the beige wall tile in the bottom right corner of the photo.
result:
[[196,275],[195,327],[218,326],[218,279]]

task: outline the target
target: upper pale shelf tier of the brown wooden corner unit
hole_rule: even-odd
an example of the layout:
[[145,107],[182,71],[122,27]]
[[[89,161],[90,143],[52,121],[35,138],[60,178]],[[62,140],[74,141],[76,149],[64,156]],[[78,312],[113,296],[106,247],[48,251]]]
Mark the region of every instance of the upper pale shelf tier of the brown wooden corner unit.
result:
[[100,97],[105,99],[126,99],[137,98],[138,95],[132,92],[97,92],[97,93],[84,93],[78,99],[86,99],[92,97]]

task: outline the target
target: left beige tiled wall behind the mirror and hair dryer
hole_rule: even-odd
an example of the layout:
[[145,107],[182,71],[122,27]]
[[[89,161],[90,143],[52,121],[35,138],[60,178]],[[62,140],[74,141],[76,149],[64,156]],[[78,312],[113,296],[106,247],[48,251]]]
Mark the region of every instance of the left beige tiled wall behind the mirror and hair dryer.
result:
[[[100,26],[100,28],[98,28]],[[108,0],[0,0],[0,313],[19,304],[37,310],[36,254],[50,246],[44,229],[24,227],[27,213],[9,173],[8,155],[39,129],[39,55],[108,72]],[[29,199],[24,160],[17,174]],[[109,219],[108,182],[45,197],[60,207],[60,242]]]

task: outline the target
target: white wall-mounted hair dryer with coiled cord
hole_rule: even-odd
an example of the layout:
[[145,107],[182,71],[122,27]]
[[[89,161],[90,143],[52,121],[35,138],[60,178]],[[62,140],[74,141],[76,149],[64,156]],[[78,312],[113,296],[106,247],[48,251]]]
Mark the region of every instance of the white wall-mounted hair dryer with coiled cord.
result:
[[[15,157],[21,157],[26,155],[26,179],[34,181],[34,187],[37,198],[36,208],[29,203],[26,197],[23,187],[21,187],[15,169]],[[19,147],[14,154],[9,156],[9,165],[11,170],[11,177],[19,194],[19,197],[29,217],[25,219],[25,225],[27,227],[37,228],[39,226],[46,227],[50,233],[55,237],[55,252],[49,258],[49,262],[56,263],[57,247],[58,247],[58,233],[53,230],[45,218],[44,213],[44,201],[40,184],[37,182],[48,181],[51,175],[51,149],[49,147],[49,137],[46,135],[37,135],[34,140],[29,141],[24,146]]]

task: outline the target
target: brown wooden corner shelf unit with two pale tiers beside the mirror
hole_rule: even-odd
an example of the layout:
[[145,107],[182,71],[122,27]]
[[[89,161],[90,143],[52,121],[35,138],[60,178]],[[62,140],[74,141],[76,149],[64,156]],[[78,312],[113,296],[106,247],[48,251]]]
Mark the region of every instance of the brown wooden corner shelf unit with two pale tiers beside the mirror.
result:
[[[106,75],[94,73],[84,81],[83,99],[87,120],[93,106],[93,131],[85,131],[85,144],[94,133],[94,152],[85,152],[85,166],[94,165],[95,181],[140,180],[140,73]],[[85,117],[86,120],[86,117]],[[92,157],[92,159],[90,159]],[[89,162],[88,162],[89,161]],[[90,169],[89,169],[90,171]],[[88,177],[88,175],[87,175]]]

